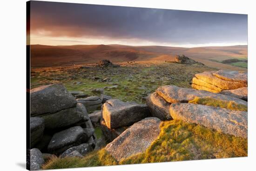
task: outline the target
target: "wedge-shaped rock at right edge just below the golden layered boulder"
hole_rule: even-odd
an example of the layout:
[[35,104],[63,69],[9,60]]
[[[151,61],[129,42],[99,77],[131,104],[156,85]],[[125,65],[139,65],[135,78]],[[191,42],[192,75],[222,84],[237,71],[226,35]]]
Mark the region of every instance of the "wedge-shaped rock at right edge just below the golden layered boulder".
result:
[[235,90],[223,90],[222,92],[219,92],[220,94],[224,94],[227,96],[232,96],[235,98],[239,98],[242,100],[247,101],[248,100],[248,89],[247,87],[238,88]]

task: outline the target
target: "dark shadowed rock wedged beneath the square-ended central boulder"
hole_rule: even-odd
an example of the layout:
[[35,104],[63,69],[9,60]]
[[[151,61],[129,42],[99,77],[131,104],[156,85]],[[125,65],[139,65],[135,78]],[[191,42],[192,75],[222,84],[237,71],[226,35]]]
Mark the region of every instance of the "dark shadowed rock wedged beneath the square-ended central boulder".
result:
[[128,127],[129,126],[121,126],[116,129],[109,129],[104,119],[101,119],[101,131],[108,142],[113,141],[115,138],[121,135],[121,133],[124,132]]

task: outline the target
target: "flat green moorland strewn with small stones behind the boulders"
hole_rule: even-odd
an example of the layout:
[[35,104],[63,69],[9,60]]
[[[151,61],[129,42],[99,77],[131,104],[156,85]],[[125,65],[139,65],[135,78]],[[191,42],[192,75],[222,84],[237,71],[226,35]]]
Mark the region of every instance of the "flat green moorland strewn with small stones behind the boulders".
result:
[[[145,103],[148,93],[161,85],[190,87],[196,73],[213,71],[207,66],[181,65],[165,61],[117,63],[120,67],[97,65],[44,67],[31,69],[31,88],[62,83],[68,91],[88,96],[104,94],[122,101]],[[104,90],[103,90],[104,89]]]

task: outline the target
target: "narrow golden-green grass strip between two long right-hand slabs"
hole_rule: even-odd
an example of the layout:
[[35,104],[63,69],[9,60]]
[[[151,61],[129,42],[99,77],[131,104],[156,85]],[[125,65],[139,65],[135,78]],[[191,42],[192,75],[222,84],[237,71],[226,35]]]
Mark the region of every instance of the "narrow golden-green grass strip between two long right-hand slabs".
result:
[[236,104],[234,101],[223,101],[223,100],[216,100],[211,98],[198,98],[196,97],[193,100],[190,100],[189,103],[193,104],[199,104],[199,105],[211,105],[214,107],[221,107],[226,108],[230,110],[236,110],[236,111],[246,111],[247,112],[247,106]]

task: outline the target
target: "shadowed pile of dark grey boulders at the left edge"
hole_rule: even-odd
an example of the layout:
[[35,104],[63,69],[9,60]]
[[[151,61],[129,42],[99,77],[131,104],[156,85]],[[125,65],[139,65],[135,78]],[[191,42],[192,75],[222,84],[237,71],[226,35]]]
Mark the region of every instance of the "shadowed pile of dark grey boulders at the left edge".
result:
[[41,152],[70,157],[94,149],[97,138],[86,106],[78,103],[63,85],[34,88],[30,96],[31,170],[40,169],[44,163]]

